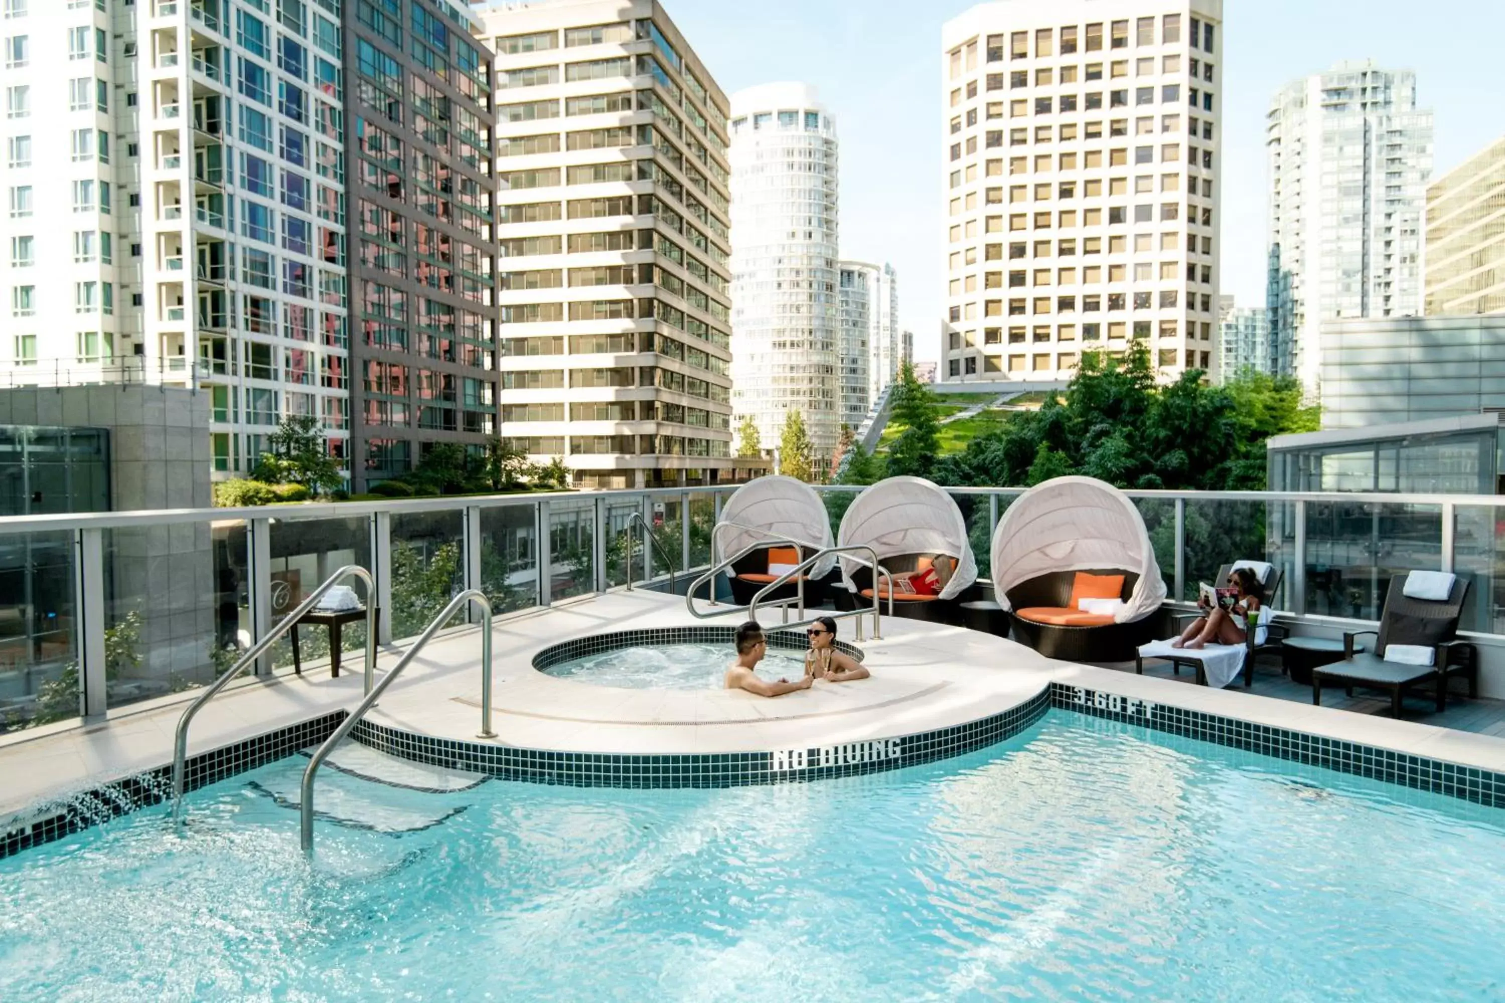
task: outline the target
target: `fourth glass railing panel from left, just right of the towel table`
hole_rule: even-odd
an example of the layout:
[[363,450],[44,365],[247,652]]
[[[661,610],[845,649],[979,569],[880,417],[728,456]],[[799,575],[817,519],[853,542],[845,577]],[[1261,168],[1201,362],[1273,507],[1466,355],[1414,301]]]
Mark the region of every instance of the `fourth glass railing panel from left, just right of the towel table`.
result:
[[[423,633],[465,588],[465,513],[397,513],[391,517],[391,636]],[[448,626],[465,623],[461,609]]]

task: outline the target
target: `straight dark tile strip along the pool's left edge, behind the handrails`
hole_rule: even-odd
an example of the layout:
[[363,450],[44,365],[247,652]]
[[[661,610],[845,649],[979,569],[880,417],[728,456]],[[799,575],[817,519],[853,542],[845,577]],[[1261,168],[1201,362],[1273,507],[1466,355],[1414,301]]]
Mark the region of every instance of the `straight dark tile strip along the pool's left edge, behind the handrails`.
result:
[[[334,711],[256,738],[202,752],[188,759],[185,788],[196,791],[236,773],[289,756],[334,734],[345,711]],[[172,764],[57,798],[56,811],[0,833],[0,857],[71,836],[120,815],[161,805],[172,797]]]

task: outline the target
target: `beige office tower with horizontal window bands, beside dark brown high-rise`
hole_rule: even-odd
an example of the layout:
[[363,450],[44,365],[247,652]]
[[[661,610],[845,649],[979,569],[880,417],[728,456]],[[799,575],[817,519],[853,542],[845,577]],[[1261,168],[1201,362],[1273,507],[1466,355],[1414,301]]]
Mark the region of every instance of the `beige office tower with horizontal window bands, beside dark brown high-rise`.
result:
[[733,480],[725,96],[655,0],[480,15],[501,435],[584,487]]

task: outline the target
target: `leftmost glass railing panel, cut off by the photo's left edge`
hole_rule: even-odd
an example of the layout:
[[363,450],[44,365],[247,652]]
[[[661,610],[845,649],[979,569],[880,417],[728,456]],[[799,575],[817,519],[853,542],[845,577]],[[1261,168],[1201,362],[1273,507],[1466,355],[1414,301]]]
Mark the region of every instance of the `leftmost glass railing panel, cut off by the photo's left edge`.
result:
[[0,535],[0,732],[78,717],[74,534]]

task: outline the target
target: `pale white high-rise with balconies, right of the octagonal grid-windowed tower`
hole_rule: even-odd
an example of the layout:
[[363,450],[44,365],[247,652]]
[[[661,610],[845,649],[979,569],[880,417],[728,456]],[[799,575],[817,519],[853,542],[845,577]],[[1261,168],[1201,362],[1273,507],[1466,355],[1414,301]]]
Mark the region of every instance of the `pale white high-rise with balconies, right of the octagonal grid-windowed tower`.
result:
[[1431,111],[1410,71],[1338,63],[1276,92],[1266,147],[1272,370],[1315,394],[1324,320],[1421,313]]

